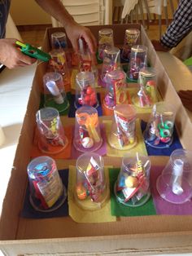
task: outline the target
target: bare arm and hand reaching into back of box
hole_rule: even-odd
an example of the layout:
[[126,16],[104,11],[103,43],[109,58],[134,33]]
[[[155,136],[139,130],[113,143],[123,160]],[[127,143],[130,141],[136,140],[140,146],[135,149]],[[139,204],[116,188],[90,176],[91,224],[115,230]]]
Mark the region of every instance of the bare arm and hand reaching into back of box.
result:
[[78,50],[79,38],[85,39],[85,42],[88,44],[91,52],[96,50],[97,45],[94,35],[88,28],[76,23],[72,18],[72,15],[68,13],[60,0],[36,0],[36,2],[43,10],[63,24],[75,51]]

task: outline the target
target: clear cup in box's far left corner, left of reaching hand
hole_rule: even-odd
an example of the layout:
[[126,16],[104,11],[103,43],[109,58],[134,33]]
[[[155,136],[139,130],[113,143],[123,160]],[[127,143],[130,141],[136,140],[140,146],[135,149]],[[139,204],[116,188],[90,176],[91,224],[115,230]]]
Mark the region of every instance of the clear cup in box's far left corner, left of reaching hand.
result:
[[62,48],[63,50],[66,50],[68,48],[66,33],[64,32],[51,33],[51,47],[52,49]]

